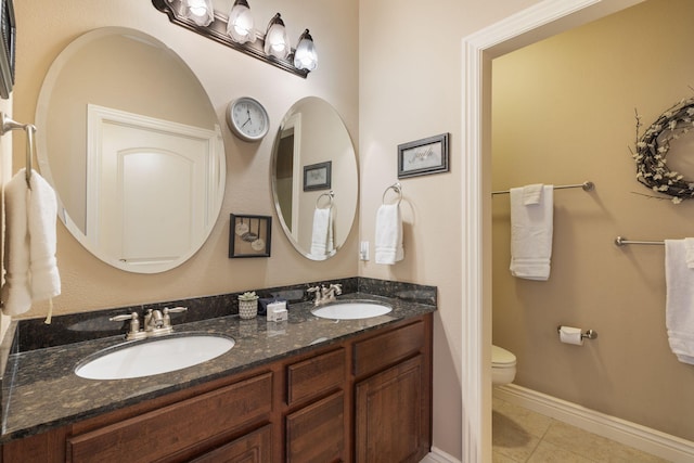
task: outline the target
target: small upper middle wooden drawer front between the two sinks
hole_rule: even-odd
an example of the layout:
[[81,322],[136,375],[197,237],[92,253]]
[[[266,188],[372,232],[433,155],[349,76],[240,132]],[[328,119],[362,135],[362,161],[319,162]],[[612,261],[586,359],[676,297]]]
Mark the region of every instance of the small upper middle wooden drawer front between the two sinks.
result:
[[287,366],[287,404],[318,397],[345,383],[345,349]]

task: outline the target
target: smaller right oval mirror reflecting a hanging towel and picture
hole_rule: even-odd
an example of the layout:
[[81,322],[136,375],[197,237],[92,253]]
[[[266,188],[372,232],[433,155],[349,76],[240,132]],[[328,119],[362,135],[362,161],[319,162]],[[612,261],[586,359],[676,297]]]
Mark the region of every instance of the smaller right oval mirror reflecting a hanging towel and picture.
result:
[[337,253],[357,213],[355,149],[327,102],[309,97],[286,113],[272,150],[272,194],[282,229],[312,260]]

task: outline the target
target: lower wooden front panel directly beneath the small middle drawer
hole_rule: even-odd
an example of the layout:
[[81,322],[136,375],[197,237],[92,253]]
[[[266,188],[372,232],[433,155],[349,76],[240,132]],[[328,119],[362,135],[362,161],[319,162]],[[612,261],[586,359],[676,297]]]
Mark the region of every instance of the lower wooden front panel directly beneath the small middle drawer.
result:
[[343,461],[345,393],[335,393],[286,417],[286,462]]

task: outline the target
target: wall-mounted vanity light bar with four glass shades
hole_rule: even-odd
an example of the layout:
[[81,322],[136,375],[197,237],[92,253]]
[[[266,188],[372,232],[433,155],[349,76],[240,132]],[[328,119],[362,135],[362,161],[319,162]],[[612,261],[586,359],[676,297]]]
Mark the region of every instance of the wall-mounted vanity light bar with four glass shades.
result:
[[254,29],[247,0],[234,0],[229,17],[215,12],[211,0],[152,0],[152,4],[171,23],[287,73],[306,78],[317,67],[316,47],[308,29],[294,50],[280,13],[272,17],[265,35]]

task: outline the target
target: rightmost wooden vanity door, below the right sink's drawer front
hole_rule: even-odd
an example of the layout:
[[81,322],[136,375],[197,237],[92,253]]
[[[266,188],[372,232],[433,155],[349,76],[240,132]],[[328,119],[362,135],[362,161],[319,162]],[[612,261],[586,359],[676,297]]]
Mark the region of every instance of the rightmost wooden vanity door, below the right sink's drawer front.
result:
[[424,377],[420,355],[357,384],[357,462],[419,462],[426,453]]

